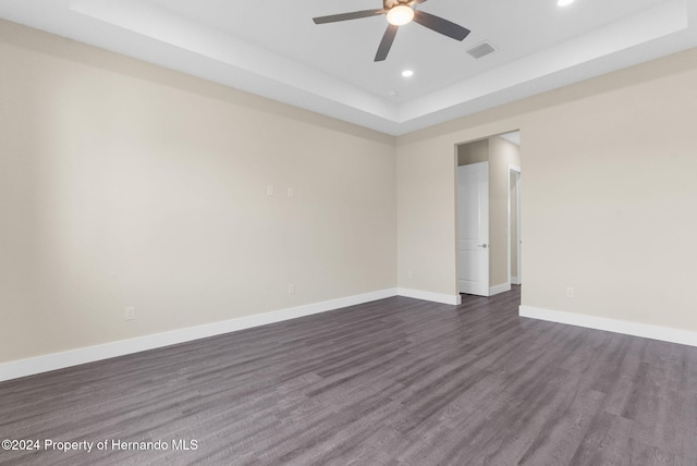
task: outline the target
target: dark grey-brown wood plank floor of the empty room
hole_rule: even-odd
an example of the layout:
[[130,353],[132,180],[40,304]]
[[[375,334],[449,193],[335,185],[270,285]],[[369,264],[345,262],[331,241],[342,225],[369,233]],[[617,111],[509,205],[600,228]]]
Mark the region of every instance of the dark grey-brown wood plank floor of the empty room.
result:
[[0,383],[0,439],[169,445],[0,463],[697,465],[697,348],[518,303],[394,297]]

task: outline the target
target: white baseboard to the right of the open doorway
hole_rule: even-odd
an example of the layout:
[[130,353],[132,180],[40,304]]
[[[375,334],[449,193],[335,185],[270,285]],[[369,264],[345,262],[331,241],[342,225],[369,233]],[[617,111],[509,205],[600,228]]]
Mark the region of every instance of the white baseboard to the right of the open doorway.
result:
[[562,310],[543,309],[534,306],[521,306],[518,308],[518,315],[521,317],[548,320],[550,322],[566,323],[588,329],[606,330],[608,332],[643,336],[645,339],[660,340],[663,342],[678,343],[688,346],[697,346],[697,332],[690,332],[687,330],[608,319],[606,317],[586,316],[583,314],[565,312]]

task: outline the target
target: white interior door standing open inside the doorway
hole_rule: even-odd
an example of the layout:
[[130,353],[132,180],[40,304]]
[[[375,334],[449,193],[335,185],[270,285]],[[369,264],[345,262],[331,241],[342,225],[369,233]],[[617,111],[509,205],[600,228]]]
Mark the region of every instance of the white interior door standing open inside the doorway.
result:
[[457,168],[457,287],[489,296],[489,162]]

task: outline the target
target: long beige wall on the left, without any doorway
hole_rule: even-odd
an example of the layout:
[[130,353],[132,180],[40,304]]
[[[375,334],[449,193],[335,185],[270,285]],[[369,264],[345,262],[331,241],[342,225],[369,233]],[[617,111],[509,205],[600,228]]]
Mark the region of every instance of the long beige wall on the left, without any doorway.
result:
[[393,137],[7,22],[0,63],[0,363],[395,286]]

